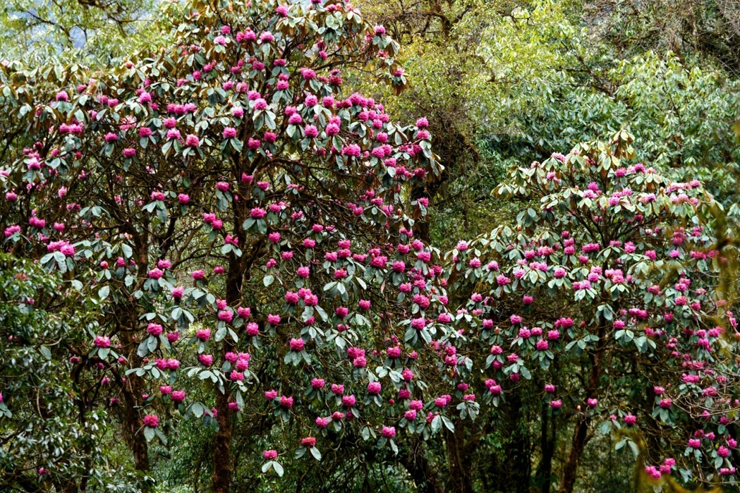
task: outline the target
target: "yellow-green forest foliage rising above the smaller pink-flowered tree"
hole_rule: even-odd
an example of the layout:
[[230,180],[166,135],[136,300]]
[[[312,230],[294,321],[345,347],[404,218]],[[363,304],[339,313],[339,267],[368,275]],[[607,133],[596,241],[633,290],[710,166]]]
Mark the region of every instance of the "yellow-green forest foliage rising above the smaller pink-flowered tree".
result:
[[[713,59],[670,53],[676,44],[639,43],[667,37],[661,26],[679,24],[682,7],[664,19],[662,2],[366,3],[403,41],[414,81],[388,107],[429,117],[448,170],[425,189],[434,238],[457,238],[461,223],[479,234],[505,214],[488,199],[500,162],[541,160],[622,128],[661,172],[699,178],[727,207],[736,202],[737,79]],[[722,15],[686,3],[707,19]],[[471,218],[472,209],[487,213]]]

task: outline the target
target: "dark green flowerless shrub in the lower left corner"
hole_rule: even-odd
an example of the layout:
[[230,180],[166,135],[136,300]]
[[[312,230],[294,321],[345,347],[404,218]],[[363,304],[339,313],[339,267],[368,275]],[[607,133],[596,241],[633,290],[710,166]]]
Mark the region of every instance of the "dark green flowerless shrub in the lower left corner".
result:
[[[74,372],[69,360],[79,358],[87,338],[84,327],[95,325],[94,310],[95,303],[60,275],[0,254],[4,486],[36,491],[84,484],[135,491],[124,464],[107,461],[113,442],[110,416],[99,396],[101,374],[95,380]],[[55,473],[48,474],[52,469]]]

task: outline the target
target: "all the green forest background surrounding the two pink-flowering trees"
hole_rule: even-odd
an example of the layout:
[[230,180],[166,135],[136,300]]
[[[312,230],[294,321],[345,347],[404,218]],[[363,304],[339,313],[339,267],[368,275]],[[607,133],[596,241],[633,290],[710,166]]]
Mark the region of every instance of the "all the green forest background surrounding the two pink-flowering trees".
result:
[[[636,157],[630,163],[645,163],[676,182],[701,181],[724,209],[721,220],[712,224],[724,233],[718,237],[727,236],[727,244],[736,241],[739,2],[357,0],[354,7],[371,25],[384,26],[400,44],[396,59],[403,65],[408,87],[397,94],[366,68],[350,66],[342,73],[343,96],[358,92],[382,101],[392,121],[418,124],[426,118],[431,150],[444,167],[435,179],[409,181],[409,201],[428,198],[428,213],[417,218],[414,238],[448,252],[460,240],[488,235],[494,228],[516,229],[522,221],[519,213],[539,201],[532,200],[534,195],[504,200],[494,192],[510,181],[507,173],[512,167],[545,162],[554,153],[568,154],[584,141],[610,141],[625,130],[634,136],[631,149]],[[187,7],[177,1],[7,0],[0,7],[0,60],[8,67],[20,61],[25,67],[55,65],[63,70],[78,64],[92,74],[113,70],[140,50],[164,53],[164,47],[181,36],[178,26],[186,12]],[[27,130],[18,129],[21,134]],[[18,129],[0,118],[0,132],[9,135]],[[0,167],[13,153],[13,145],[7,139],[0,147]],[[11,224],[7,217],[2,218],[3,227]],[[84,294],[59,298],[45,311],[14,308],[13,300],[19,296],[53,292],[60,281],[55,272],[41,269],[38,263],[14,258],[16,249],[3,248],[8,254],[0,257],[0,335],[4,339],[13,341],[23,326],[29,333],[53,330],[60,338],[74,341],[75,327],[93,323],[101,308]],[[457,249],[454,252],[461,255]],[[726,267],[736,268],[732,262]],[[33,286],[19,284],[19,272],[33,279]],[[451,289],[449,306],[464,306],[480,291],[480,282]],[[736,288],[736,282],[727,287],[730,303]],[[548,312],[560,306],[554,300],[537,309]],[[62,348],[53,346],[52,351],[57,350]],[[562,365],[558,371],[564,375],[587,372],[582,360]],[[147,468],[142,468],[121,437],[121,423],[127,417],[112,404],[113,391],[106,386],[90,390],[95,392],[90,399],[101,404],[81,423],[73,401],[65,398],[78,392],[65,376],[69,372],[67,360],[55,355],[47,358],[26,346],[0,348],[0,392],[15,388],[24,395],[21,387],[36,389],[24,395],[29,405],[16,406],[12,419],[10,413],[0,417],[0,489],[184,493],[215,488],[214,429],[194,419],[167,424],[166,444],[150,441]],[[280,378],[282,374],[275,369],[270,375]],[[635,370],[629,379],[614,385],[628,393],[648,386],[650,375]],[[343,449],[346,445],[327,447],[320,463],[286,459],[290,465],[283,464],[286,474],[280,476],[263,469],[263,450],[295,434],[287,425],[247,419],[233,430],[232,491],[565,491],[561,477],[576,426],[576,400],[563,397],[563,412],[553,415],[542,399],[544,380],[535,377],[520,383],[507,389],[498,406],[482,406],[468,426],[456,432],[443,428],[440,440],[397,440],[396,455],[362,446],[352,452]],[[55,402],[53,416],[32,405],[47,387],[53,388],[54,396],[49,398]],[[737,395],[734,389],[728,392],[733,398]],[[650,406],[654,397],[650,396]],[[206,394],[198,398],[210,399]],[[0,403],[0,416],[7,409]],[[19,429],[19,416],[27,428]],[[676,426],[693,432],[689,425]],[[43,437],[33,433],[41,427],[47,430]],[[83,435],[94,437],[84,452],[82,442],[75,442]],[[354,440],[359,443],[360,437],[355,435]],[[635,464],[639,455],[639,463],[645,465],[644,444],[638,438],[630,446],[620,446],[619,441],[620,437],[602,433],[596,426],[588,429],[570,491],[616,493],[653,487],[684,491],[678,483],[641,483],[642,472],[635,472]],[[677,455],[683,455],[684,446],[682,442]],[[79,461],[89,475],[84,488],[38,480],[38,457],[48,459],[48,451],[55,448],[75,450],[75,454],[61,453],[52,462],[69,460],[73,468],[73,462]],[[682,478],[679,473],[674,476]],[[682,481],[687,488],[700,484],[708,488],[712,483]],[[723,488],[737,491],[733,484]]]

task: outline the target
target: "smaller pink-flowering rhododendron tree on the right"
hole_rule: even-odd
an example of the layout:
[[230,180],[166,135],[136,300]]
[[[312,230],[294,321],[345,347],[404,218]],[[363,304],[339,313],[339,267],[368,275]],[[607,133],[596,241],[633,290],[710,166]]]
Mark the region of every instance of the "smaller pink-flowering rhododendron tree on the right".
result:
[[516,227],[448,254],[452,292],[476,291],[450,343],[485,366],[483,402],[532,380],[550,409],[543,426],[573,417],[562,492],[595,429],[639,455],[639,478],[656,485],[736,474],[740,334],[718,289],[736,252],[718,249],[718,206],[699,181],[625,164],[632,141],[621,131],[515,168],[495,193],[528,201]]

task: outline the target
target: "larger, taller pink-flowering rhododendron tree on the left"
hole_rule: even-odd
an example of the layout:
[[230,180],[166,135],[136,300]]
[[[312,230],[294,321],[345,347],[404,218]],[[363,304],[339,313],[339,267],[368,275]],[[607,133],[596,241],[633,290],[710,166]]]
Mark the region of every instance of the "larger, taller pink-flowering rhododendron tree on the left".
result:
[[423,118],[394,124],[340,72],[401,90],[397,44],[341,2],[189,12],[176,47],[109,73],[2,73],[4,246],[100,306],[72,371],[104,369],[142,472],[178,416],[215,429],[216,492],[245,415],[289,426],[272,446],[299,458],[344,435],[397,452],[404,412],[429,436],[441,418],[408,403],[443,269],[405,190],[441,167]]

